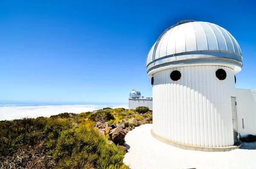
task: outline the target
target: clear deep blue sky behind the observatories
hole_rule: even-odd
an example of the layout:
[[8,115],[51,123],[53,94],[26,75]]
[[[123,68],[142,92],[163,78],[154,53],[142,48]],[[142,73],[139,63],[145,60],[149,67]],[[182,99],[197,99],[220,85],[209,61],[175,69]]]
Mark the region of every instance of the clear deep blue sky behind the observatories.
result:
[[[145,59],[179,20],[218,24],[238,41],[237,88],[256,83],[256,1],[1,0],[0,100],[127,102],[152,96]],[[256,86],[254,86],[256,88]]]

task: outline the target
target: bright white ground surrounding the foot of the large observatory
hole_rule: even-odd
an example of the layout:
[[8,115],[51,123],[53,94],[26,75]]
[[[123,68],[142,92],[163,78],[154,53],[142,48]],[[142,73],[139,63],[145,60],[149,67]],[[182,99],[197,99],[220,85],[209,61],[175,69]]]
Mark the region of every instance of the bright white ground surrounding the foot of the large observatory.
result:
[[128,132],[130,148],[124,163],[131,169],[256,169],[256,143],[245,143],[230,152],[199,152],[179,149],[154,139],[152,124]]

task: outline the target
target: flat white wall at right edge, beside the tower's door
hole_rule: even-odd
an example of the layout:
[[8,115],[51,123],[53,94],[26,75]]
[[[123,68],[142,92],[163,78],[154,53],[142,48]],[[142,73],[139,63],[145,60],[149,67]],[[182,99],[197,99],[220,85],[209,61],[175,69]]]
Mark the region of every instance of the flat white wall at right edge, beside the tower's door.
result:
[[256,135],[256,90],[236,89],[236,102],[241,137]]

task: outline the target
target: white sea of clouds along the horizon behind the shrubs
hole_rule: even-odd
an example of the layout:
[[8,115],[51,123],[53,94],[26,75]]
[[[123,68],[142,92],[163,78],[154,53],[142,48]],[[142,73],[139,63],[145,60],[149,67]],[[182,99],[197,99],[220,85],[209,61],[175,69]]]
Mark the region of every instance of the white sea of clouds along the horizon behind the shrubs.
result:
[[50,117],[60,113],[81,113],[91,112],[93,110],[102,109],[104,107],[128,109],[126,104],[111,104],[111,105],[51,105],[51,106],[0,106],[0,120],[14,120],[23,117]]

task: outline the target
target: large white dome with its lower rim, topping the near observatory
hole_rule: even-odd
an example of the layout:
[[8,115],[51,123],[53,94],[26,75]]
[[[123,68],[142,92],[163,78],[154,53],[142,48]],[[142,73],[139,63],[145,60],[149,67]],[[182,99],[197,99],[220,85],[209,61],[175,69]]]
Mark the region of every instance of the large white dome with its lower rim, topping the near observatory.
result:
[[209,22],[184,20],[169,27],[150,49],[146,68],[148,75],[167,69],[197,65],[228,64],[240,72],[241,49],[224,28]]

